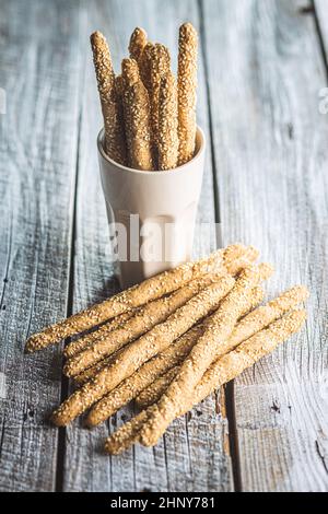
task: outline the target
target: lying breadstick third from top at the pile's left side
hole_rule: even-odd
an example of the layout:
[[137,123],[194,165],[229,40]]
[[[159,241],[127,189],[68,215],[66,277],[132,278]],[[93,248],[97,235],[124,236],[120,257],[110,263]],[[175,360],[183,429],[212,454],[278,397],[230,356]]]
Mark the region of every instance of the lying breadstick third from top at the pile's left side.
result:
[[93,346],[69,359],[63,366],[63,374],[69,377],[77,376],[128,342],[138,339],[159,323],[163,323],[178,307],[215,281],[218,281],[218,276],[207,274],[200,279],[191,280],[168,296],[149,302],[140,307],[138,313],[130,317],[124,326],[103,334],[94,341]]

